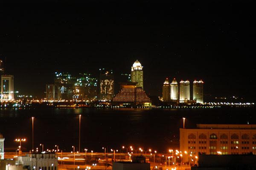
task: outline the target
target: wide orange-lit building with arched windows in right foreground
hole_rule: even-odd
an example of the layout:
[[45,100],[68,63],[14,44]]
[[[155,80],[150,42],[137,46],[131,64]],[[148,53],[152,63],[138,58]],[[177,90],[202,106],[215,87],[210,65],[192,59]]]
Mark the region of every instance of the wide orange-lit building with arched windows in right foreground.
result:
[[189,161],[198,153],[256,154],[256,125],[251,124],[197,124],[197,129],[180,129],[180,151]]

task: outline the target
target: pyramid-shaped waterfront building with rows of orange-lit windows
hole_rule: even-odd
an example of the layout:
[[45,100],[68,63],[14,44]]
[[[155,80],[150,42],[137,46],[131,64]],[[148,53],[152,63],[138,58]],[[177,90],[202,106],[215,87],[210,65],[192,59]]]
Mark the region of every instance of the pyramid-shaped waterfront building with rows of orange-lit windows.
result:
[[113,98],[113,104],[151,106],[151,100],[136,83],[120,83],[120,91]]

